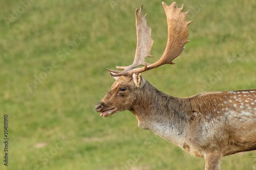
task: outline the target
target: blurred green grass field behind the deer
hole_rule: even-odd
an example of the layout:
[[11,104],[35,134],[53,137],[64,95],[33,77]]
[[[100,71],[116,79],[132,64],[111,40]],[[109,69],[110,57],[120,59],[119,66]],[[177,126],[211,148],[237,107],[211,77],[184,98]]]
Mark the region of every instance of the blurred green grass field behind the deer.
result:
[[[0,2],[0,169],[204,169],[203,159],[140,129],[129,111],[102,118],[94,110],[114,82],[106,67],[133,61],[140,4],[155,40],[153,63],[167,40],[161,1]],[[190,42],[177,64],[143,77],[180,98],[255,89],[256,1],[177,4],[191,9]],[[222,169],[256,169],[255,157],[224,157]]]

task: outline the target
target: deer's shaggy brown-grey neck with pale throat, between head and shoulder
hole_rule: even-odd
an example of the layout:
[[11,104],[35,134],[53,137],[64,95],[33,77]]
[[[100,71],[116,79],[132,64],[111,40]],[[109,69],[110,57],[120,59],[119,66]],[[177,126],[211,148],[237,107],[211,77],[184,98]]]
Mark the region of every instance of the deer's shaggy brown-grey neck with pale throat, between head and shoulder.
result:
[[148,82],[138,95],[131,110],[138,119],[138,126],[152,130],[165,140],[182,145],[187,129],[182,100],[159,91]]

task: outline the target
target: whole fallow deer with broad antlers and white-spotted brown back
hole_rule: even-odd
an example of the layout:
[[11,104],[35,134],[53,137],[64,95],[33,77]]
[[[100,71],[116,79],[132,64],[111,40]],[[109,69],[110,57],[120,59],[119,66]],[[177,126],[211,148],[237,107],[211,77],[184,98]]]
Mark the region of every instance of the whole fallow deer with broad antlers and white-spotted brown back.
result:
[[[137,49],[130,66],[118,67],[110,74],[116,79],[103,100],[95,106],[100,116],[130,110],[138,126],[181,147],[191,155],[205,159],[205,169],[221,169],[221,158],[238,152],[256,150],[256,89],[204,92],[189,98],[167,95],[142,78],[141,72],[174,64],[173,60],[188,42],[189,11],[183,5],[167,6],[168,40],[162,57],[145,63],[153,39],[142,5],[136,9]],[[138,67],[143,65],[144,67]]]

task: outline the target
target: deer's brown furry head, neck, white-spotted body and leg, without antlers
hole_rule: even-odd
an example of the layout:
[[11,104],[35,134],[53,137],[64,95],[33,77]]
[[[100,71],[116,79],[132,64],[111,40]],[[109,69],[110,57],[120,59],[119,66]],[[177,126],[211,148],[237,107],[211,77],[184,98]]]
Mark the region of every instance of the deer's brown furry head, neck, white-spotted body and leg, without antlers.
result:
[[256,89],[180,99],[140,75],[122,76],[95,108],[104,117],[130,110],[140,128],[203,157],[205,169],[220,169],[223,156],[256,150]]

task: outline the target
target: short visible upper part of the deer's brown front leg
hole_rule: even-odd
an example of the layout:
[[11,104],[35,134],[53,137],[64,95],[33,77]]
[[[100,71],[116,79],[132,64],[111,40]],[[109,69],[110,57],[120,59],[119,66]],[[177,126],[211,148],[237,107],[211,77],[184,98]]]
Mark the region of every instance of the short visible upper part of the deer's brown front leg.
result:
[[221,169],[221,154],[207,153],[204,156],[205,170],[220,170]]

